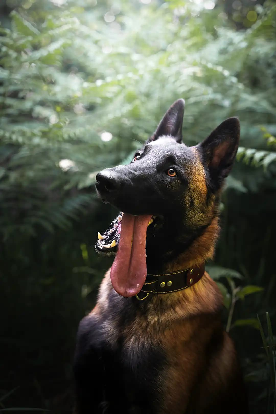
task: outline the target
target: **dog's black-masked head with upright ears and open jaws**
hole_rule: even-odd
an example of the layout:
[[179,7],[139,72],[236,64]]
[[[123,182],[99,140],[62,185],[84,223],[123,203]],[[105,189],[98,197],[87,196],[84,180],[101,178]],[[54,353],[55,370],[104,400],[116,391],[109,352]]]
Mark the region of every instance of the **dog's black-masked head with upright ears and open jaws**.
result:
[[[150,267],[171,260],[218,214],[218,195],[235,159],[240,123],[237,118],[229,118],[203,142],[186,147],[182,143],[183,114],[184,100],[179,99],[130,164],[105,169],[96,176],[98,195],[121,211],[107,231],[98,233],[96,250],[116,253],[121,227],[125,227],[120,246],[124,250],[124,245],[130,244],[124,250],[130,258],[120,272],[130,266],[132,256],[136,267],[145,260]],[[147,259],[141,258],[141,243],[146,243]],[[126,293],[123,296],[133,296]]]

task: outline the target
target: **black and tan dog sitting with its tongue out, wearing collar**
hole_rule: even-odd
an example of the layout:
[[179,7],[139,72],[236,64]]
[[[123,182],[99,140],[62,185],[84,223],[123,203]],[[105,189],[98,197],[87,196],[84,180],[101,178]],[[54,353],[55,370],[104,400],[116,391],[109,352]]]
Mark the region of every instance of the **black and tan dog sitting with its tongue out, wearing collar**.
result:
[[116,256],[79,326],[78,414],[248,412],[221,294],[204,272],[240,124],[229,118],[186,147],[183,113],[180,99],[130,164],[96,176],[123,213],[98,233],[96,249]]

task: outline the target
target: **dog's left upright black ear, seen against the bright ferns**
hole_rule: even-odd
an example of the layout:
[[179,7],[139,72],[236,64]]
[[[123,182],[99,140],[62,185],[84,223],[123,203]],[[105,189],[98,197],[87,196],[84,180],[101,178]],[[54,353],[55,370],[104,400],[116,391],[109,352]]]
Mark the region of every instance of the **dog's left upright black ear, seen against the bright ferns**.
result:
[[175,138],[177,142],[181,142],[184,108],[184,99],[178,99],[175,101],[175,103],[173,103],[173,105],[165,113],[156,131],[147,142],[155,141],[163,135],[170,135]]

